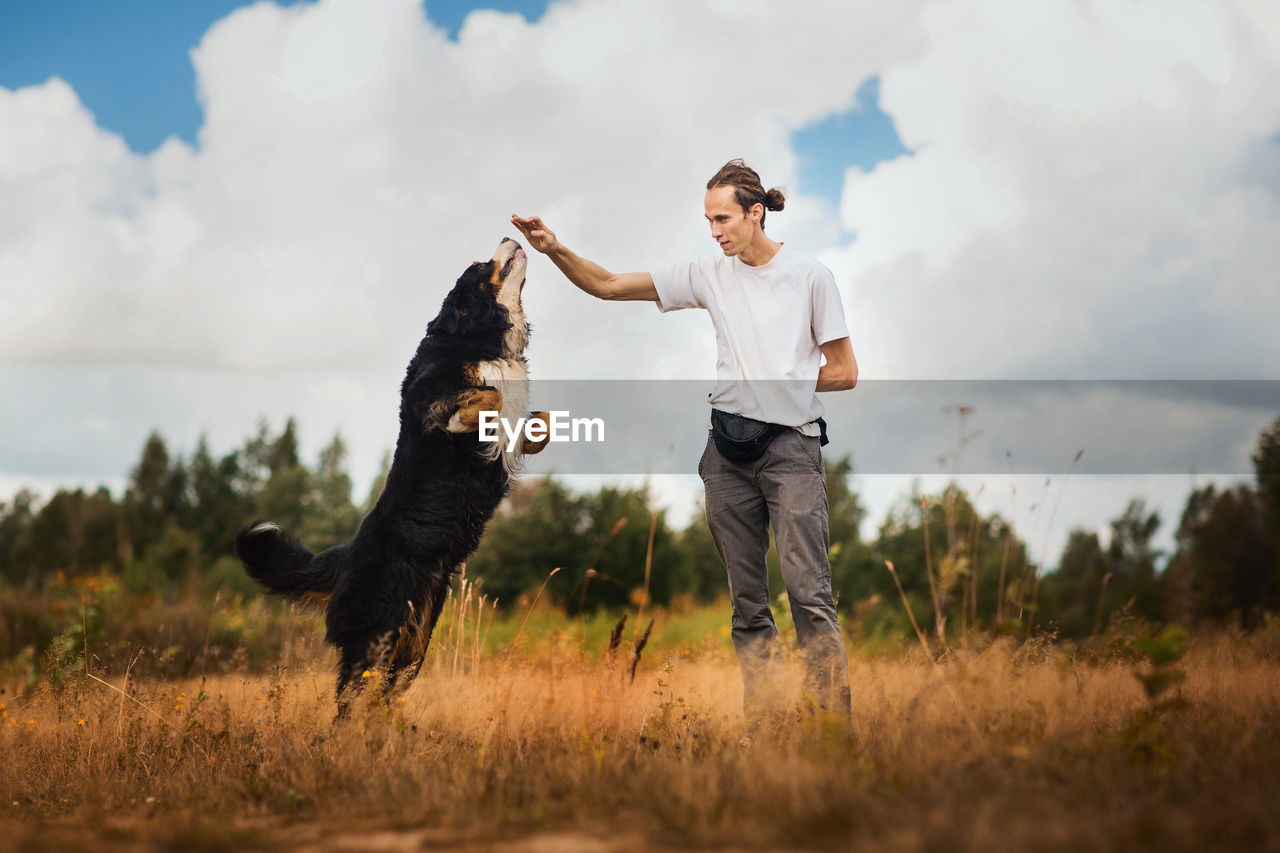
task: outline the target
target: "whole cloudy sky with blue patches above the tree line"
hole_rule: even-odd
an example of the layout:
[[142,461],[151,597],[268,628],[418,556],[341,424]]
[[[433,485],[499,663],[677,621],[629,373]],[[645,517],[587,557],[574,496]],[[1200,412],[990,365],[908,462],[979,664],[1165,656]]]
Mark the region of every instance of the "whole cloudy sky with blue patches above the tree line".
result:
[[[703,187],[741,156],[841,289],[861,382],[824,394],[828,451],[868,533],[956,476],[1050,562],[1132,497],[1167,547],[1280,414],[1277,78],[1271,0],[4,3],[0,500],[119,492],[152,429],[220,453],[291,415],[366,489],[509,214],[657,269],[718,251]],[[539,407],[714,374],[699,311],[539,256],[525,306]],[[699,418],[530,470],[686,519]]]

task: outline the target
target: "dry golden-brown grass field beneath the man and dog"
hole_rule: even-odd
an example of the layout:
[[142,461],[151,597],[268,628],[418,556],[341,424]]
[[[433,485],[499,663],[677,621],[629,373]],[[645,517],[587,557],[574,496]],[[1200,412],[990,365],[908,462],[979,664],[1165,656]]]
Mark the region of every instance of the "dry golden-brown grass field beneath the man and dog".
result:
[[443,625],[404,695],[337,725],[315,630],[270,676],[77,672],[10,692],[0,847],[1280,847],[1270,634],[1193,637],[1158,702],[1138,656],[1006,638],[934,663],[852,647],[850,724],[796,694],[781,729],[744,743],[723,642],[655,634],[632,681],[628,642],[589,654],[566,624],[483,652],[472,628]]

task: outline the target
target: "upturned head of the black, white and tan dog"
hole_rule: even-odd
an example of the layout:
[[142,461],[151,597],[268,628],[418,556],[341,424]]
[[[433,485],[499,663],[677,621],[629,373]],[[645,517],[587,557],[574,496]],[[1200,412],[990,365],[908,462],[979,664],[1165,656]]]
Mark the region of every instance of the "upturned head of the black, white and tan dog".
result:
[[476,338],[503,333],[503,355],[515,357],[529,345],[529,323],[520,293],[525,288],[525,250],[509,237],[486,261],[476,261],[458,278],[426,327],[428,334]]

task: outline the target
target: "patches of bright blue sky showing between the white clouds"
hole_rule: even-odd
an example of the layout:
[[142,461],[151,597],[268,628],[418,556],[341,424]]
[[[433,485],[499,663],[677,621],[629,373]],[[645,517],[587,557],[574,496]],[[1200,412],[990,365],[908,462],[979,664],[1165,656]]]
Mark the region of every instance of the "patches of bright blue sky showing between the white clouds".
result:
[[[276,5],[296,5],[306,0]],[[204,115],[188,51],[239,0],[5,0],[0,13],[0,86],[20,88],[60,77],[99,126],[148,154],[169,136],[195,145]],[[472,9],[515,12],[536,23],[543,0],[433,0],[428,17],[456,38]],[[879,109],[879,81],[868,79],[852,109],[794,134],[796,190],[838,204],[845,169],[870,170],[906,154]]]

